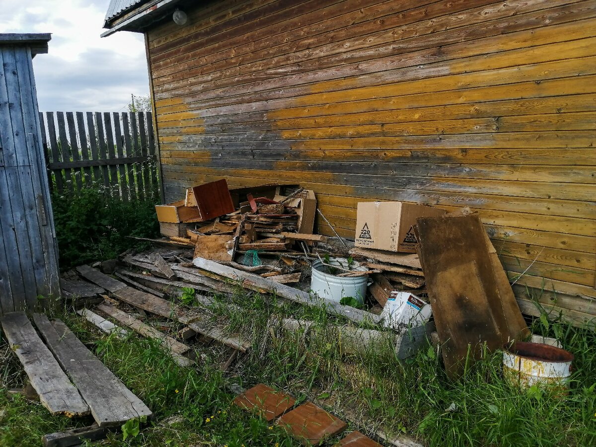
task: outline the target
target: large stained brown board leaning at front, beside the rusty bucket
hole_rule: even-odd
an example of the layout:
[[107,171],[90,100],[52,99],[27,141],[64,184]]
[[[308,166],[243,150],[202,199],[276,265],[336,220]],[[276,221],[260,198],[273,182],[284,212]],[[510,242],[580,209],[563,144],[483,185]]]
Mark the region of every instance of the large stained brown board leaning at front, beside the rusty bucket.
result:
[[443,362],[457,378],[468,353],[478,359],[483,343],[494,350],[509,338],[485,230],[476,215],[419,218],[417,229]]

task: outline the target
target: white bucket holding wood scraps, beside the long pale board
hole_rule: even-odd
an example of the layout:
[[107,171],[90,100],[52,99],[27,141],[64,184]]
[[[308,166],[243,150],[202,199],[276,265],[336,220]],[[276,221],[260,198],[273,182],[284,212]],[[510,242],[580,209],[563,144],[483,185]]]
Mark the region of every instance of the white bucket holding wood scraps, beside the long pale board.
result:
[[[330,265],[342,267],[355,271],[365,272],[368,269],[361,266],[358,262],[353,262],[348,266],[347,259],[331,258]],[[315,260],[312,263],[311,290],[323,299],[328,299],[339,303],[344,297],[354,297],[360,303],[364,303],[364,297],[367,294],[368,276],[359,277],[337,277],[326,273],[327,266],[321,260]],[[343,270],[338,271],[343,273]]]

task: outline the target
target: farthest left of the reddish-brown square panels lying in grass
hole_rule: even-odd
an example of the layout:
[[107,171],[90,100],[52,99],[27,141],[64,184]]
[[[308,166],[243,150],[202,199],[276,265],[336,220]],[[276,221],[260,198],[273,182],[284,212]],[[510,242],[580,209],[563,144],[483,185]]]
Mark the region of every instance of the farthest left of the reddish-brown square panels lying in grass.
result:
[[266,421],[271,422],[294,406],[294,399],[283,392],[277,392],[259,383],[246,390],[234,401],[235,405],[248,411],[256,411]]

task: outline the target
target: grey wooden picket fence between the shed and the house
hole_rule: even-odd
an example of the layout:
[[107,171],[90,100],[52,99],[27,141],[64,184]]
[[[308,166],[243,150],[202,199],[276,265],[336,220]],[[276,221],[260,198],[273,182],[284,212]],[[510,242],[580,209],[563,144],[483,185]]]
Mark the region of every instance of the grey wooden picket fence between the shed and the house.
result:
[[124,201],[155,197],[151,112],[39,113],[49,184],[59,193],[92,185]]

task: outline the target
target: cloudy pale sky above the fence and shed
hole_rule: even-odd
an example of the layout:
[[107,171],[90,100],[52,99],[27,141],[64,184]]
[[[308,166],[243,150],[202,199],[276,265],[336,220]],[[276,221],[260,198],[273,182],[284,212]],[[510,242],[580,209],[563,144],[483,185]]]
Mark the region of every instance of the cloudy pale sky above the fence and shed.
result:
[[0,0],[0,33],[52,33],[33,59],[41,111],[120,111],[149,94],[142,34],[100,38],[109,0]]

